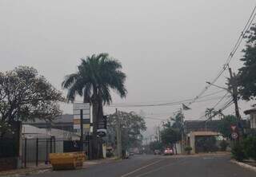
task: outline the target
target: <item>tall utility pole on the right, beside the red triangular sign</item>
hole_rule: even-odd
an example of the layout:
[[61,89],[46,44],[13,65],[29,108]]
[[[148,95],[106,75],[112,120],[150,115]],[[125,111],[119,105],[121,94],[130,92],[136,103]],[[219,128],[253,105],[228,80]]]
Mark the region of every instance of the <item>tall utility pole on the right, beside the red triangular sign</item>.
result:
[[229,68],[229,72],[230,72],[230,85],[231,85],[232,96],[234,101],[234,111],[235,111],[235,116],[238,117],[238,131],[239,131],[239,134],[241,135],[243,134],[243,128],[242,128],[242,119],[241,119],[239,107],[238,107],[238,85],[237,85],[237,81],[235,81],[234,79],[231,68]]

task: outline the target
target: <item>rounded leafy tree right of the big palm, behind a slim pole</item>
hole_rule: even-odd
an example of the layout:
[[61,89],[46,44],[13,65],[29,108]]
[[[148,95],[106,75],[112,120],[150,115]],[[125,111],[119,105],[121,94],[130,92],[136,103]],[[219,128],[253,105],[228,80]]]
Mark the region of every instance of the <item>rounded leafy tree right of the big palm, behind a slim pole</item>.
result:
[[120,121],[122,149],[142,146],[142,132],[146,131],[146,122],[135,112],[110,114],[107,119],[107,137],[110,144],[115,144],[117,120]]

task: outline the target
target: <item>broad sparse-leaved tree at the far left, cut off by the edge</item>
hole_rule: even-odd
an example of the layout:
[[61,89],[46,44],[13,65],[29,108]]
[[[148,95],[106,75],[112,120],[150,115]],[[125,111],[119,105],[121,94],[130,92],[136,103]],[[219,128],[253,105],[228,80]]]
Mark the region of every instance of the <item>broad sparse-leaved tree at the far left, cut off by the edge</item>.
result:
[[54,119],[61,114],[58,101],[63,100],[34,68],[19,66],[0,73],[0,135],[10,131],[14,121]]

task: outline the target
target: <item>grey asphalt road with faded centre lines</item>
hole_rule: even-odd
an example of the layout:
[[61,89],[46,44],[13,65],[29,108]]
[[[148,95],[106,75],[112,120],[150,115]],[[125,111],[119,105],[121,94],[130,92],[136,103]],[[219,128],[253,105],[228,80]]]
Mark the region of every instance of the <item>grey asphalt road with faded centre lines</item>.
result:
[[134,155],[131,159],[76,171],[53,171],[34,177],[255,177],[256,172],[230,163],[228,155]]

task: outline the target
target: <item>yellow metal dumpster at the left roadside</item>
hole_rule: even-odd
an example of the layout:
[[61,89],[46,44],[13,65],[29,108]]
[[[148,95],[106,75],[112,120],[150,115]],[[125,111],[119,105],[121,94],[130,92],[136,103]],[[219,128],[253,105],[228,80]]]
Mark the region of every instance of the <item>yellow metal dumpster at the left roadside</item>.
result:
[[82,167],[82,163],[85,161],[85,154],[83,152],[50,153],[49,157],[54,170]]

